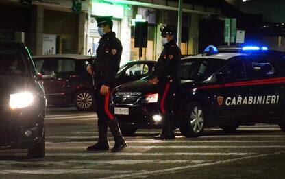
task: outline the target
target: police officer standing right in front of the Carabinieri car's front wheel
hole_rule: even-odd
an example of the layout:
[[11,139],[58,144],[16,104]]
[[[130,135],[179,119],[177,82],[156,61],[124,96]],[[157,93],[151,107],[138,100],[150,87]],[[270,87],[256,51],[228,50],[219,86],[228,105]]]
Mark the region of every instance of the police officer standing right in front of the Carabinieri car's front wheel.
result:
[[173,114],[173,95],[179,84],[178,68],[181,51],[174,40],[174,31],[160,27],[164,49],[154,68],[153,84],[158,84],[158,100],[162,114],[162,132],[154,139],[175,139],[175,119]]

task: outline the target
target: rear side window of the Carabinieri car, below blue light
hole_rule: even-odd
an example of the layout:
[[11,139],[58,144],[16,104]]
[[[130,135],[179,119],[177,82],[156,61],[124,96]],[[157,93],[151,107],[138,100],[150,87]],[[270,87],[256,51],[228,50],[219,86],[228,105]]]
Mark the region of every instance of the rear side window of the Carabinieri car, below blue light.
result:
[[275,65],[266,58],[249,58],[245,60],[247,77],[250,79],[260,79],[275,77],[277,69]]

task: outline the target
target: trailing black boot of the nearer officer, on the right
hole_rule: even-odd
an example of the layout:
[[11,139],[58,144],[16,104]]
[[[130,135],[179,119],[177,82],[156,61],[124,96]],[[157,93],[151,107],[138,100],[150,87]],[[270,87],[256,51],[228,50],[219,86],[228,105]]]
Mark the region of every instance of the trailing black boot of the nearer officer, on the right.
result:
[[120,150],[124,149],[125,147],[127,147],[127,143],[125,142],[125,140],[123,139],[123,136],[121,134],[121,130],[118,124],[118,121],[116,121],[116,119],[112,119],[110,121],[108,121],[108,126],[114,136],[114,140],[115,140],[115,145],[112,148],[111,152],[119,152]]

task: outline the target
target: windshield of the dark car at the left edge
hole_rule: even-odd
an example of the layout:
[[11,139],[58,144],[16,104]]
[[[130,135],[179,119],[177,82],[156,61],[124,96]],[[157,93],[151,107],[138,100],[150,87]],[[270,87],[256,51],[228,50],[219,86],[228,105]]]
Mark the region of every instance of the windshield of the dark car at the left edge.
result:
[[27,75],[25,58],[20,48],[0,49],[0,75]]

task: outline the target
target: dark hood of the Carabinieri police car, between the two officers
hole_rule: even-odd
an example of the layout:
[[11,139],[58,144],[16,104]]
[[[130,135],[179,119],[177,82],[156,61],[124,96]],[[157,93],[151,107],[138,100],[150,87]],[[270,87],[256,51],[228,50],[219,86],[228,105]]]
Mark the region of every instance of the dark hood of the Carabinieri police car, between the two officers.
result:
[[114,89],[114,95],[146,95],[149,93],[157,93],[155,84],[149,80],[138,80],[122,84]]

